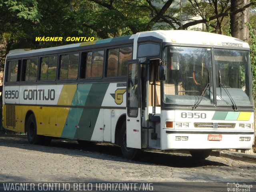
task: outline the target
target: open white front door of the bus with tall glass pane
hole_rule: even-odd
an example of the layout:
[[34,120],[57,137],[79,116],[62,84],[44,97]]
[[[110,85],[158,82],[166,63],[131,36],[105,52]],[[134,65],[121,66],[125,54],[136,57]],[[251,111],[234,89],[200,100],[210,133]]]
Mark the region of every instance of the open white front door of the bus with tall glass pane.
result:
[[126,145],[141,149],[140,63],[128,62],[126,98]]

